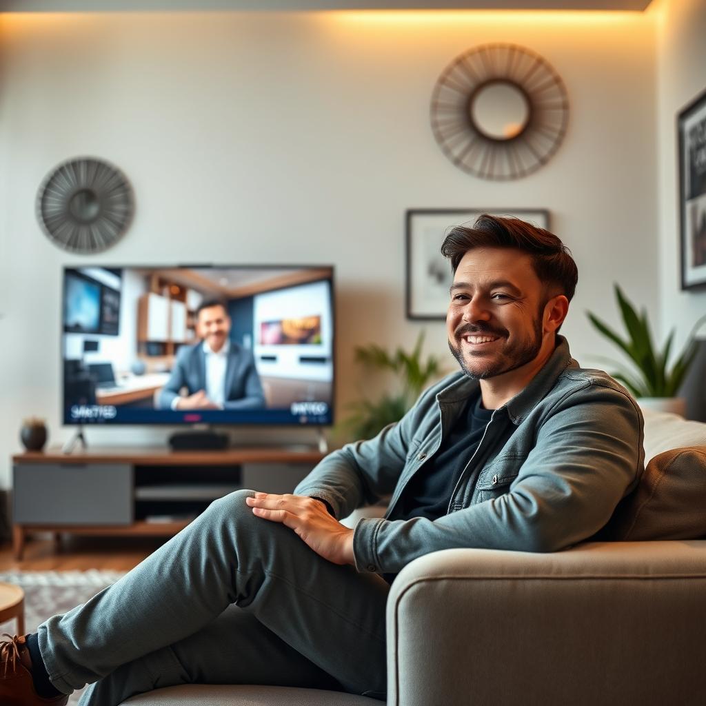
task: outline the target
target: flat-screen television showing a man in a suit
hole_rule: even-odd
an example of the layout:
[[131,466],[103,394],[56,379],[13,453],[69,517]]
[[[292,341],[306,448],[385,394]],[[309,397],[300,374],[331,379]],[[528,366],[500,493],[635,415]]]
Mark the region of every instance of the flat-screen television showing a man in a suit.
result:
[[333,424],[330,265],[64,268],[65,424]]

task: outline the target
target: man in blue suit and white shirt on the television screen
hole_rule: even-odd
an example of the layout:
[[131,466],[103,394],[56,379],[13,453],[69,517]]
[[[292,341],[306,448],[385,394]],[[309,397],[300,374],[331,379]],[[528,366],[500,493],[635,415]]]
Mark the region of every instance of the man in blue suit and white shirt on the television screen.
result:
[[[253,354],[229,340],[230,316],[222,301],[196,310],[201,342],[177,353],[172,376],[157,396],[160,409],[256,409],[265,395]],[[187,388],[186,397],[180,395]]]

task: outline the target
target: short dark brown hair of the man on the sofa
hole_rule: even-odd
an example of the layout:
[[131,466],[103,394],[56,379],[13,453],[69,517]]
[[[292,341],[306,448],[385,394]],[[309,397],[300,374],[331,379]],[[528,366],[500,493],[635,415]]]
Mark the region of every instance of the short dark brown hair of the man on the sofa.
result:
[[532,256],[539,280],[559,289],[571,301],[578,282],[578,268],[571,251],[544,228],[519,218],[480,215],[472,228],[458,225],[451,229],[441,246],[441,254],[451,261],[453,273],[461,258],[473,248],[514,248]]

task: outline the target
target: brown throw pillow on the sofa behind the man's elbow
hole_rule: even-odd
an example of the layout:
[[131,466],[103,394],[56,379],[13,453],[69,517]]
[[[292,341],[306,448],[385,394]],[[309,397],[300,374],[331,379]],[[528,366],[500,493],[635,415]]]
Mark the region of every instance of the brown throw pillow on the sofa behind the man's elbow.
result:
[[600,534],[617,542],[706,537],[706,446],[655,456]]

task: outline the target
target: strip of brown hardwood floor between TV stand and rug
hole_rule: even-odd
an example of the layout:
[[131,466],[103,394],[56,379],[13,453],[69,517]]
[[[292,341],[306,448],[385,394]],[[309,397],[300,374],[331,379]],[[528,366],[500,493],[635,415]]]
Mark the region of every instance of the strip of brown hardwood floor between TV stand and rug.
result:
[[31,537],[22,561],[15,561],[10,542],[0,544],[0,571],[128,571],[166,541],[159,537]]

